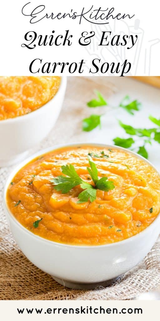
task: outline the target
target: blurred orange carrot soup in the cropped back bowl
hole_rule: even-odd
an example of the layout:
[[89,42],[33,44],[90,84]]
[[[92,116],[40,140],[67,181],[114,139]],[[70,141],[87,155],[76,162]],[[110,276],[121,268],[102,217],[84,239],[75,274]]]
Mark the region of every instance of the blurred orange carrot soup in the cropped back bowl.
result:
[[60,77],[0,76],[0,120],[30,113],[51,100]]

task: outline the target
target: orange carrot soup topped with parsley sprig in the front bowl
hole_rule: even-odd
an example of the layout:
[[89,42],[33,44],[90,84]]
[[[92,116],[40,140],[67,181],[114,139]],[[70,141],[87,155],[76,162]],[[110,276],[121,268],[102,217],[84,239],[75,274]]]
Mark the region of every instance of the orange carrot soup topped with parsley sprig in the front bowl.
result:
[[[95,189],[93,180],[108,191]],[[45,239],[102,245],[153,222],[160,212],[159,188],[160,176],[144,160],[116,148],[82,145],[54,150],[20,169],[7,203],[26,229]]]

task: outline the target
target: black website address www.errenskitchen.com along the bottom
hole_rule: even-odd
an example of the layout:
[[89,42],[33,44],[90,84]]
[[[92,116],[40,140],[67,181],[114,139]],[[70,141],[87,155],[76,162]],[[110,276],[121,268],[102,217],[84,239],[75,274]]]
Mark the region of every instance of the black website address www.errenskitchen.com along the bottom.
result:
[[93,308],[92,306],[79,307],[79,308],[17,308],[18,314],[54,314],[54,315],[63,315],[63,314],[142,314],[142,308],[103,308],[97,307]]

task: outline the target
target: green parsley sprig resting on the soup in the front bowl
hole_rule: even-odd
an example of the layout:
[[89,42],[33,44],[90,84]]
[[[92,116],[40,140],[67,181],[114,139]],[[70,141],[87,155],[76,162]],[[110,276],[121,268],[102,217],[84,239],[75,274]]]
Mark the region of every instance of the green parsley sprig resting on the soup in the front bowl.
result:
[[109,181],[107,177],[98,178],[98,169],[96,164],[91,160],[89,156],[89,165],[87,167],[87,171],[92,178],[94,185],[91,185],[85,182],[80,176],[77,174],[74,166],[70,165],[63,165],[61,166],[62,174],[56,178],[52,178],[51,183],[54,184],[54,188],[57,191],[61,191],[62,194],[68,193],[73,187],[80,185],[83,191],[78,195],[78,202],[77,203],[84,203],[88,200],[91,203],[96,199],[96,191],[100,189],[102,191],[108,192],[111,189],[114,189],[114,183]]

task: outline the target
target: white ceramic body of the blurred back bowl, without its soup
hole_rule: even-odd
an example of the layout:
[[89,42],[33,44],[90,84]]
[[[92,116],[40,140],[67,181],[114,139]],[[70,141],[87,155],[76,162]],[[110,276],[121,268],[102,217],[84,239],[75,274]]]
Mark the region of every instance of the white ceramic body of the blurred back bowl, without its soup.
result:
[[44,106],[31,113],[0,121],[0,167],[24,159],[54,126],[63,103],[67,77],[61,77],[56,95]]

